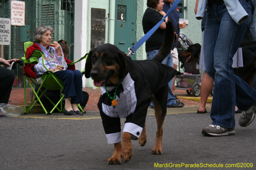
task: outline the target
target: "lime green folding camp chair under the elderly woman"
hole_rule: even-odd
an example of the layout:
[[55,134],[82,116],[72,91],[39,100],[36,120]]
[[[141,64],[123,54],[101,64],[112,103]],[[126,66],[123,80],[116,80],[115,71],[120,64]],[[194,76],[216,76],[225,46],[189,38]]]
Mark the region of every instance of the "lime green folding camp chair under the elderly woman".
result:
[[[39,59],[40,57],[44,57],[43,53],[42,53],[40,50],[37,50],[37,49],[36,49],[36,50],[33,51],[32,55],[26,59],[27,48],[30,47],[31,45],[33,45],[33,42],[31,42],[31,41],[26,41],[26,42],[24,42],[24,57],[21,57],[21,59],[22,59],[23,62],[24,62],[24,68],[27,68],[27,69],[30,67],[31,64],[34,64],[34,65],[37,64],[37,63],[38,63],[38,59]],[[83,60],[84,58],[87,57],[87,55],[88,55],[88,53],[87,53],[86,55],[84,55],[84,57],[80,58],[78,61],[76,61],[76,62],[74,62],[74,63],[69,63],[68,66],[71,66],[71,65],[73,65],[73,64],[75,64],[75,63],[77,63],[77,62]],[[42,61],[43,61],[43,65],[44,65],[44,60],[42,60]],[[45,65],[44,65],[44,67],[45,67]],[[40,105],[41,105],[41,106],[43,107],[43,109],[44,109],[44,112],[45,112],[47,115],[51,115],[52,112],[54,111],[54,109],[57,109],[60,113],[64,110],[64,107],[62,107],[62,102],[61,102],[62,99],[64,98],[64,95],[60,97],[60,100],[59,100],[56,104],[54,104],[54,103],[52,102],[52,100],[49,99],[49,98],[45,95],[45,92],[46,92],[47,90],[60,90],[60,94],[61,94],[62,89],[63,89],[63,82],[62,82],[57,76],[55,76],[52,71],[49,71],[46,67],[45,67],[45,69],[46,69],[47,71],[41,76],[41,78],[42,78],[43,80],[42,80],[42,83],[41,83],[41,85],[40,85],[39,87],[38,87],[38,85],[35,83],[36,81],[34,81],[34,80],[36,79],[35,77],[31,77],[31,76],[29,76],[28,74],[27,74],[27,75],[24,74],[24,114],[27,114],[27,113],[32,109],[32,107],[35,106],[35,104],[36,104],[37,102],[40,103]],[[23,70],[24,70],[24,69],[23,69]],[[26,69],[25,69],[25,70],[26,70]],[[34,70],[32,70],[32,71],[34,71]],[[27,110],[26,110],[26,80],[28,81],[29,86],[32,88],[32,90],[33,90],[33,92],[34,92],[34,94],[35,94],[35,97],[33,98],[32,102],[31,102],[31,104],[30,104],[30,106],[28,107]],[[32,82],[32,84],[34,84],[34,85],[38,88],[38,91],[37,91],[37,92],[36,92],[35,89],[33,88],[33,85],[31,84],[31,82]],[[41,90],[41,88],[42,88],[43,86],[46,88],[46,89],[44,90],[44,92]],[[39,93],[39,92],[42,93],[40,96],[38,96],[38,93]],[[52,103],[52,105],[54,106],[50,112],[47,112],[47,110],[45,109],[45,107],[44,107],[42,101],[40,100],[40,98],[41,98],[43,95],[44,95],[45,98],[48,99],[48,100]],[[35,102],[34,102],[34,101],[35,101]],[[60,104],[60,109],[57,107],[59,104]],[[78,108],[84,113],[84,110],[82,109],[82,107],[81,107],[79,104],[78,104]]]

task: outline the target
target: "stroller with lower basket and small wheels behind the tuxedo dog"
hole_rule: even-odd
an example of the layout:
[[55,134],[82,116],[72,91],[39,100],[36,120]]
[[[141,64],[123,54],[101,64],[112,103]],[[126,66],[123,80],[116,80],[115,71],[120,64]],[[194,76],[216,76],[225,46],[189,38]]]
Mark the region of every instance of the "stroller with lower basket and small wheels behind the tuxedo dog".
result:
[[193,42],[184,34],[178,39],[179,71],[181,68],[184,73],[176,76],[177,85],[174,89],[186,90],[188,94],[192,92],[193,96],[198,97],[201,93],[201,76],[199,70],[196,68],[198,61],[193,59],[191,62],[186,63],[186,59],[181,57],[192,44]]

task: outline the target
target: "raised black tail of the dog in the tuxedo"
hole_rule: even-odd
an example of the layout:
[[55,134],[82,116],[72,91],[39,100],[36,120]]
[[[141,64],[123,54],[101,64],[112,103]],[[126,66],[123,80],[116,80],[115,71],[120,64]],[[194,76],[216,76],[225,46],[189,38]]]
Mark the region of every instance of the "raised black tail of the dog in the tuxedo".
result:
[[168,21],[165,29],[164,43],[159,49],[159,52],[152,60],[155,60],[158,63],[162,63],[165,57],[170,54],[171,50],[174,48],[174,30],[172,26],[172,21]]

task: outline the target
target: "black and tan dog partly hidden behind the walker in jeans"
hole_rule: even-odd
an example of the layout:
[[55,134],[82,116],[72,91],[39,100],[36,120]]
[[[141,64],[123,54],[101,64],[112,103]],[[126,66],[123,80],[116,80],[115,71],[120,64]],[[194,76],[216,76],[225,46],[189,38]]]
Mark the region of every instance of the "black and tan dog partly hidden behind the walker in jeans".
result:
[[[187,51],[183,53],[181,57],[186,58],[187,63],[193,59],[196,59],[196,61],[199,62],[200,52],[201,45],[196,43],[189,46]],[[253,82],[256,75],[256,55],[248,49],[242,49],[242,54],[244,67],[234,68],[234,74],[254,88]]]

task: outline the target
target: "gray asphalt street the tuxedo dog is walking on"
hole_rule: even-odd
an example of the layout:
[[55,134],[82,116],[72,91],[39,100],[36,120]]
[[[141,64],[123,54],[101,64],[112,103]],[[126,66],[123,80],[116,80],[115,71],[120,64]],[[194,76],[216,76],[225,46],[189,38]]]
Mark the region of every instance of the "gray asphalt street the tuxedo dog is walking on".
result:
[[[153,155],[156,119],[149,109],[148,142],[140,147],[138,141],[132,141],[132,160],[125,163],[122,159],[121,165],[107,164],[114,145],[107,143],[97,111],[84,116],[55,113],[1,117],[0,169],[256,169],[256,121],[240,127],[239,117],[235,115],[234,136],[206,137],[201,131],[211,123],[210,113],[197,114],[196,108],[168,109],[163,154]],[[122,126],[124,121],[121,119]],[[224,167],[218,168],[221,165]]]

